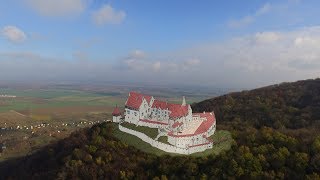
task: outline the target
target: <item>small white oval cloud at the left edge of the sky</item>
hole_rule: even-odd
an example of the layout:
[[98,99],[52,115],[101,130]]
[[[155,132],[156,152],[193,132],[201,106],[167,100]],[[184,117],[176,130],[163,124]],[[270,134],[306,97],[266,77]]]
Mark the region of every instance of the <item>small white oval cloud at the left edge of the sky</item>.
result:
[[1,30],[1,35],[14,43],[21,43],[26,40],[26,34],[15,26],[5,26]]

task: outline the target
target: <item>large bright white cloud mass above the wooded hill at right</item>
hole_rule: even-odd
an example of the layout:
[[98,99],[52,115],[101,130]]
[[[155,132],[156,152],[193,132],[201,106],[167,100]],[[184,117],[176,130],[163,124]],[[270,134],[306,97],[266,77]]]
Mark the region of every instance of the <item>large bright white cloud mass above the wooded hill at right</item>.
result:
[[[186,49],[196,56],[198,79],[242,86],[316,78],[320,72],[320,27],[261,32]],[[223,81],[222,81],[222,79]]]

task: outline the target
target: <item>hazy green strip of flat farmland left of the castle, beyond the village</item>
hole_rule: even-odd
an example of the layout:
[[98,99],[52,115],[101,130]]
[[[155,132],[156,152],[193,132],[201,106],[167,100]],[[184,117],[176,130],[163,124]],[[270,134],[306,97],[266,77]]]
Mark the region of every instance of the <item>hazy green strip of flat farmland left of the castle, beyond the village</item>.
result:
[[0,112],[71,106],[114,106],[124,104],[125,97],[116,93],[94,93],[80,90],[16,90],[0,89],[0,94],[16,98],[0,99]]

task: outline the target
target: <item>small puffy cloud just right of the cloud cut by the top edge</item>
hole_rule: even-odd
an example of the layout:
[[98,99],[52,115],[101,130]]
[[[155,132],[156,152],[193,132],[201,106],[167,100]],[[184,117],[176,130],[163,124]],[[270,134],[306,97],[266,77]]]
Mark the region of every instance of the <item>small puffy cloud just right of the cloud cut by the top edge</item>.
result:
[[93,21],[97,25],[120,24],[125,17],[126,13],[124,11],[117,11],[109,4],[103,5],[92,14]]

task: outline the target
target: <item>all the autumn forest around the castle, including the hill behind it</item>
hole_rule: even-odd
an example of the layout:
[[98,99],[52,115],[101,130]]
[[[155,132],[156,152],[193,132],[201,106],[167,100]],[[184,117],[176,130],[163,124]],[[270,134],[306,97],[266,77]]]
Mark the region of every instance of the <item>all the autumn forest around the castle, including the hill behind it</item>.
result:
[[[112,123],[73,133],[0,164],[7,179],[320,179],[320,80],[232,93],[194,104],[232,132],[219,155],[156,156],[114,136]],[[1,179],[1,178],[0,178]]]

